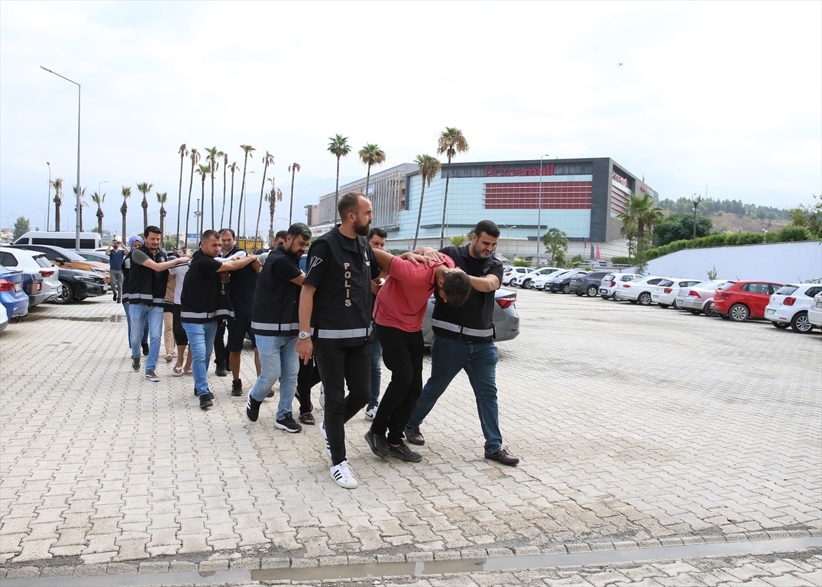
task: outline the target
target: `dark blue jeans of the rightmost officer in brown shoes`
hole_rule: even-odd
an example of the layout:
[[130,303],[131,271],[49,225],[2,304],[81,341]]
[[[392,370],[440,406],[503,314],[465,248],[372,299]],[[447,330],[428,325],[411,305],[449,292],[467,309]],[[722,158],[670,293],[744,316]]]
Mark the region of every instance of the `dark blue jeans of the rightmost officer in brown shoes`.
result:
[[431,344],[431,378],[423,388],[409,426],[418,426],[443,392],[464,369],[477,398],[479,424],[483,427],[485,452],[502,448],[500,412],[496,404],[496,361],[500,358],[493,342],[467,342],[462,338],[434,334]]

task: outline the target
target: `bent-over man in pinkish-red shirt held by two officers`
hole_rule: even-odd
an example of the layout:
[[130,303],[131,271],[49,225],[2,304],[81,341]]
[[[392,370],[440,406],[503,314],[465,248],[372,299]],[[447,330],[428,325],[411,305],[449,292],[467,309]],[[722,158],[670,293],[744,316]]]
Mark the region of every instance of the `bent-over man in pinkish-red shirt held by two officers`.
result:
[[391,381],[365,439],[376,456],[418,462],[423,457],[403,442],[403,430],[423,391],[423,317],[428,299],[436,289],[437,304],[459,307],[471,292],[471,278],[448,256],[428,265],[394,257],[388,274],[376,296],[374,321]]

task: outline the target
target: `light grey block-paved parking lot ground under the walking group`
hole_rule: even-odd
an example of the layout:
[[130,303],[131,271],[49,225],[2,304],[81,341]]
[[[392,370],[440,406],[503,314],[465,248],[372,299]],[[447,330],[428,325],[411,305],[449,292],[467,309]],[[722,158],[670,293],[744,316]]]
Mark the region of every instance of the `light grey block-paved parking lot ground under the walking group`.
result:
[[[521,464],[483,459],[473,393],[460,375],[423,424],[421,463],[381,461],[363,440],[367,421],[349,422],[360,481],[353,491],[330,479],[315,427],[274,429],[273,401],[251,424],[245,400],[229,395],[230,378],[210,376],[215,407],[204,412],[192,378],[171,377],[162,359],[160,383],[133,373],[122,306],[110,298],[36,307],[0,335],[0,576],[436,561],[822,534],[819,331],[518,295],[522,333],[500,343],[497,383],[504,441]],[[818,584],[820,553],[822,542],[811,556],[779,557],[804,567],[771,576]],[[506,584],[526,584],[517,580]],[[584,584],[555,580],[566,582],[539,584]]]

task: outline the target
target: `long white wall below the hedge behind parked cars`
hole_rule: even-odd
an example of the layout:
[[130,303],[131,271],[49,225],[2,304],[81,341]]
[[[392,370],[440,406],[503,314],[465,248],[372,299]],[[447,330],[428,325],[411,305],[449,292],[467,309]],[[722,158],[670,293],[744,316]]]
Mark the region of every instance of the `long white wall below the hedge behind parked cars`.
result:
[[718,279],[806,282],[822,277],[822,242],[777,242],[679,250],[649,261],[645,274],[707,279],[708,272],[714,267]]

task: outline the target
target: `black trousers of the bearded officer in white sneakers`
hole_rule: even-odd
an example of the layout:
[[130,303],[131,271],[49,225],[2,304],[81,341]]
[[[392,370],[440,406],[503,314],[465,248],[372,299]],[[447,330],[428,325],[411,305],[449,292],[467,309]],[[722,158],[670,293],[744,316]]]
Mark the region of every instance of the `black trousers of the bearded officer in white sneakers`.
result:
[[[371,396],[371,343],[358,346],[315,346],[326,387],[326,436],[331,461],[345,460],[344,424],[362,410]],[[346,385],[349,395],[345,395]]]

